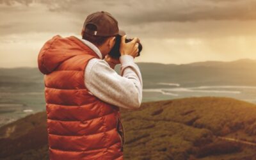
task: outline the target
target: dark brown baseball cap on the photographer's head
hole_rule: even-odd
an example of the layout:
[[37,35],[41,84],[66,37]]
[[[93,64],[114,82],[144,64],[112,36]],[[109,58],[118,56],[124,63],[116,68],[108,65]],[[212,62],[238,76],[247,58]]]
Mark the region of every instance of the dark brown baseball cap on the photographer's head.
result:
[[[86,28],[87,24],[93,24],[96,30]],[[88,15],[84,21],[83,30],[90,35],[96,36],[125,35],[125,31],[118,28],[117,20],[106,11],[94,12]]]

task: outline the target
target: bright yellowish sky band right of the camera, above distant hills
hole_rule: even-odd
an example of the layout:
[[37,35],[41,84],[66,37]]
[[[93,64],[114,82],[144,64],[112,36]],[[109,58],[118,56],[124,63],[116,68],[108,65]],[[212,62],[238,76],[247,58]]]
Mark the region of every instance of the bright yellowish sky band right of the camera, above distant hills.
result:
[[159,63],[191,63],[195,61],[233,61],[256,59],[256,38],[233,36],[227,38],[145,38],[143,51],[136,61]]

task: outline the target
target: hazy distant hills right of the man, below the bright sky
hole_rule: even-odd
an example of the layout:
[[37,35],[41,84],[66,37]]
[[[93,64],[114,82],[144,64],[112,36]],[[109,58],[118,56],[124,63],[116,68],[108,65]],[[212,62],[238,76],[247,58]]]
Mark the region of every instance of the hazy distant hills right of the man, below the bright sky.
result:
[[[256,60],[204,61],[188,64],[137,63],[144,88],[159,88],[156,83],[179,83],[182,86],[256,85]],[[120,69],[120,65],[116,70]],[[161,86],[163,87],[163,85]]]

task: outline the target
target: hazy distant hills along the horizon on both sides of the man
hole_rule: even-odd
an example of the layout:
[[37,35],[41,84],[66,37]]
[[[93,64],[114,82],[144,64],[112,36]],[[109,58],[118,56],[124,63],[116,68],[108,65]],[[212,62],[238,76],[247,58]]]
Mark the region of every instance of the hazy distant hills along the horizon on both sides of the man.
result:
[[[137,63],[143,78],[143,88],[158,88],[156,83],[179,83],[182,86],[241,84],[256,86],[256,60],[204,61],[188,64]],[[120,72],[120,65],[116,65]],[[0,68],[0,86],[16,89],[43,90],[44,79],[38,68]],[[0,88],[0,91],[4,88]]]

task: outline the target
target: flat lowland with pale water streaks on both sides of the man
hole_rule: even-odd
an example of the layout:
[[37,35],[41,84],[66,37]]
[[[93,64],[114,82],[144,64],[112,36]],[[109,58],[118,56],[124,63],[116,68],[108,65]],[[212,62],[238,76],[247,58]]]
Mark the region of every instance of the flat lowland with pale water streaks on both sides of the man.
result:
[[[184,87],[179,83],[156,83],[161,88],[144,88],[143,102],[184,97],[232,97],[256,104],[256,86],[207,85]],[[38,111],[45,111],[42,92],[0,92],[0,126]]]

